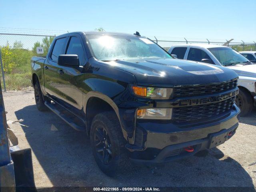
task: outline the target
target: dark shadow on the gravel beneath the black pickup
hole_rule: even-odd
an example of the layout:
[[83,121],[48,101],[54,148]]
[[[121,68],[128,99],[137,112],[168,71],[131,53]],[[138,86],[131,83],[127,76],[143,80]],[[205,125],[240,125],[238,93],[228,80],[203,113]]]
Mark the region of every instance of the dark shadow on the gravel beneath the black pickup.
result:
[[[236,160],[217,148],[159,166],[134,168],[109,178],[96,165],[90,141],[52,112],[35,105],[15,112],[36,158],[54,186],[241,186],[253,187],[252,179]],[[36,173],[36,167],[34,167]]]

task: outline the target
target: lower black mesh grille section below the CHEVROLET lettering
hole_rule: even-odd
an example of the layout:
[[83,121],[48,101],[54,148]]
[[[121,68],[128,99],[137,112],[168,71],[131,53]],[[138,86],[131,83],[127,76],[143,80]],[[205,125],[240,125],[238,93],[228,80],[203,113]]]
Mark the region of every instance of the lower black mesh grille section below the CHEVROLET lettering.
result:
[[176,122],[191,122],[219,116],[219,114],[232,109],[234,100],[235,97],[232,97],[217,103],[173,108],[172,119]]

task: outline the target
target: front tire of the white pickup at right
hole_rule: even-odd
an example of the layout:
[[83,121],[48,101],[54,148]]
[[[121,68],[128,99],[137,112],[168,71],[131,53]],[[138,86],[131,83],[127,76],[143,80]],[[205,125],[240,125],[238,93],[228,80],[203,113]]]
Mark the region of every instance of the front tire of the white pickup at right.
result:
[[250,114],[253,107],[252,96],[244,88],[239,88],[239,94],[236,96],[236,105],[240,108],[240,116],[244,117]]

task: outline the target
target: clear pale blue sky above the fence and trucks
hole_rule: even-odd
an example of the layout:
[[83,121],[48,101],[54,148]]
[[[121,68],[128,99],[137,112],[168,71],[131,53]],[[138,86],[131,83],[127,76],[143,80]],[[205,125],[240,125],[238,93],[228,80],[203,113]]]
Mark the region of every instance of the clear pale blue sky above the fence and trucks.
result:
[[254,40],[256,0],[0,0],[0,27]]

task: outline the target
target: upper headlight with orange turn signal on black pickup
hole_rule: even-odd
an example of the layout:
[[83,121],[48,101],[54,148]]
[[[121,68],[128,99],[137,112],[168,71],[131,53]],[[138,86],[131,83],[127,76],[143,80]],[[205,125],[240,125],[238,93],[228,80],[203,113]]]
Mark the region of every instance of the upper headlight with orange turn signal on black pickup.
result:
[[132,91],[137,96],[148,97],[152,99],[170,99],[172,96],[172,88],[132,86]]

